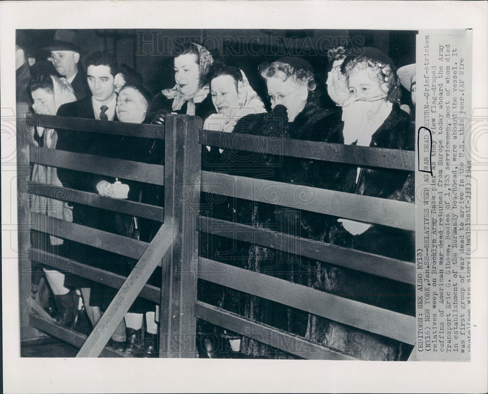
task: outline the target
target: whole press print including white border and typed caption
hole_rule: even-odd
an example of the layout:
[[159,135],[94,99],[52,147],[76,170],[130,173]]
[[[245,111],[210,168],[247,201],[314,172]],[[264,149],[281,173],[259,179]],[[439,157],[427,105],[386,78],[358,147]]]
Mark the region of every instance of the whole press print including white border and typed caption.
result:
[[[144,23],[137,3],[164,6],[134,1],[123,5],[134,25],[115,20],[115,3],[90,3],[114,10],[112,22],[9,26],[15,108],[2,73],[2,179],[14,177],[2,190],[15,205],[2,209],[2,228],[12,223],[2,265],[18,274],[18,362],[42,375],[62,361],[73,374],[97,359],[102,376],[125,363],[133,387],[194,359],[180,366],[187,379],[213,371],[215,383],[193,390],[224,380],[236,392],[251,390],[235,386],[252,379],[244,365],[276,377],[282,366],[327,374],[329,362],[351,374],[347,361],[403,361],[376,363],[395,375],[428,361],[469,367],[471,330],[483,336],[486,317],[485,301],[481,315],[472,306],[483,260],[471,253],[486,248],[471,208],[483,189],[471,176],[486,174],[472,26],[338,27],[325,9],[322,23],[268,23],[266,12],[298,5],[286,1],[247,3],[261,25],[235,28],[222,20],[239,16],[220,13],[215,26]],[[193,14],[196,2],[170,3]],[[187,387],[180,368],[179,385],[154,390]],[[128,390],[61,381],[39,392]]]

